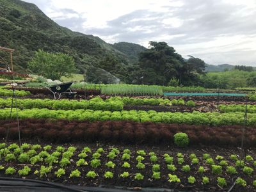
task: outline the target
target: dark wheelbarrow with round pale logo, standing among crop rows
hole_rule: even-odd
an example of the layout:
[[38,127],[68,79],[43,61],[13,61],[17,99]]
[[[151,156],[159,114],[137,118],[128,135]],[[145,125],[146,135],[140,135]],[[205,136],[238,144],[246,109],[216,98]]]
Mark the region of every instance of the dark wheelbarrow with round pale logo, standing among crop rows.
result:
[[54,84],[51,86],[43,86],[47,88],[50,92],[52,92],[54,99],[56,99],[57,97],[58,99],[60,99],[62,94],[66,95],[68,99],[73,99],[76,95],[76,92],[73,92],[70,89],[71,84],[73,84],[73,82]]

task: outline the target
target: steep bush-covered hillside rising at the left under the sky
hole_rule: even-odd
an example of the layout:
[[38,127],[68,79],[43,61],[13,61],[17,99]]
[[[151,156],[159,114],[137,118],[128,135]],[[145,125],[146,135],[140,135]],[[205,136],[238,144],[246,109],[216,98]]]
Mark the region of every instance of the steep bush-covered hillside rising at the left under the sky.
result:
[[[79,72],[84,72],[88,66],[98,68],[109,58],[116,61],[116,70],[134,61],[131,54],[127,56],[97,36],[63,28],[35,4],[20,0],[0,0],[0,45],[15,49],[13,64],[17,71],[26,70],[28,61],[38,49],[70,54]],[[6,56],[4,52],[0,55]],[[118,76],[118,71],[112,72]]]

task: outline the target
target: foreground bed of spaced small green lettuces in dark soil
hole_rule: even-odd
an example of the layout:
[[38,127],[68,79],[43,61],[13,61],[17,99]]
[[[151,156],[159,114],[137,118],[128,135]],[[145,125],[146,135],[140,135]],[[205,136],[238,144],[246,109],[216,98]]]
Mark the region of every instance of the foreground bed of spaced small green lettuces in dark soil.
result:
[[[24,142],[26,141],[22,140],[22,143]],[[18,145],[11,145],[11,147],[11,143],[8,143],[6,147],[1,145],[3,148],[1,152],[6,148],[5,152],[9,154],[8,157],[4,155],[1,158],[1,176],[40,179],[68,185],[79,184],[79,186],[151,187],[189,191],[227,191],[234,180],[241,177],[246,182],[246,186],[236,184],[234,191],[255,190],[253,187],[255,148],[246,150],[248,158],[246,157],[247,160],[243,165],[241,160],[244,154],[238,148],[189,147],[182,149],[168,146],[123,146],[84,142],[76,145],[64,144],[60,147],[60,145],[45,141],[29,141],[28,143],[34,145],[22,145],[23,153],[20,152]],[[31,148],[35,151],[31,151]],[[21,153],[27,155],[21,158]],[[10,154],[14,154],[15,159],[12,160],[13,156]],[[38,161],[35,156],[39,157]],[[228,166],[230,167],[227,168]],[[252,170],[248,170],[248,167]],[[29,171],[19,172],[24,168]],[[56,172],[59,173],[59,177]],[[124,175],[124,172],[128,173],[127,177],[124,177],[127,175],[127,173]],[[153,173],[155,173],[154,176]],[[173,176],[179,180],[175,182],[170,178]],[[202,177],[207,177],[209,183],[204,180],[205,184],[203,184]],[[224,181],[217,182],[218,177]],[[191,179],[190,182],[188,178]],[[224,185],[221,186],[221,184]]]

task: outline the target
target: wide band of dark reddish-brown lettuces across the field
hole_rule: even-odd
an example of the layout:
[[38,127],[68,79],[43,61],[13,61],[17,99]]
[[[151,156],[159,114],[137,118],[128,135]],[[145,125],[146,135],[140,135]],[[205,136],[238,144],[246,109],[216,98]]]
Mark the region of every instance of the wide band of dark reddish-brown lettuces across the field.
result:
[[[18,138],[17,122],[0,121],[0,138]],[[67,120],[20,120],[22,138],[38,138],[57,143],[100,141],[103,143],[133,143],[149,145],[173,145],[173,135],[185,132],[191,145],[241,146],[244,127],[226,125],[209,127],[207,125],[158,124],[152,122],[106,121],[79,122]],[[256,129],[247,127],[247,146],[256,146]]]

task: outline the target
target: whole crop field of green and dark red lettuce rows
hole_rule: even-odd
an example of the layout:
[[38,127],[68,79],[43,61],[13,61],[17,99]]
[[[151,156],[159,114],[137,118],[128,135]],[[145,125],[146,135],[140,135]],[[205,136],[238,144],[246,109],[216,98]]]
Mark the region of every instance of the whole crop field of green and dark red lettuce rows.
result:
[[74,99],[54,100],[43,88],[17,88],[10,116],[12,90],[0,88],[0,175],[81,186],[256,190],[254,93],[165,97],[166,90],[206,91],[95,84],[75,90]]

